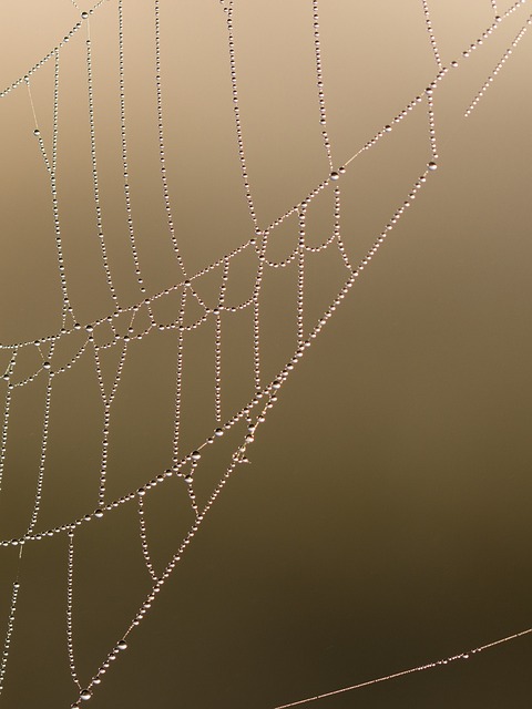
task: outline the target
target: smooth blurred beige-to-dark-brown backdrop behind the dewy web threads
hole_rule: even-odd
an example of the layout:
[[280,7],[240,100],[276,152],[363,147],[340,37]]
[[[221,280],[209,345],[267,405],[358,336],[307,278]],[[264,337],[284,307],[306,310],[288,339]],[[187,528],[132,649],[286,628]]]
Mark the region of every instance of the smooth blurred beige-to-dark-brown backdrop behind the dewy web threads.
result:
[[[155,294],[181,276],[161,189],[152,4],[124,2],[124,43],[133,218],[146,287]],[[161,4],[168,182],[176,233],[194,273],[246,242],[252,224],[239,176],[223,9],[215,0]],[[248,172],[265,225],[328,172],[311,4],[235,6]],[[422,92],[436,63],[421,2],[320,6],[328,127],[341,165]],[[509,6],[499,1],[502,11]],[[438,90],[439,169],[283,388],[249,448],[253,464],[231,479],[88,708],[272,709],[530,626],[531,37],[472,116],[462,117],[529,6]],[[489,0],[432,0],[430,7],[446,64],[492,21]],[[1,86],[23,75],[76,17],[68,0],[3,2]],[[104,230],[121,305],[130,306],[140,295],[123,196],[116,18],[110,0],[90,24]],[[84,61],[82,30],[61,52],[58,185],[71,299],[80,321],[89,322],[113,307],[96,237]],[[53,62],[31,85],[49,145]],[[22,85],[0,101],[2,342],[60,327],[49,183],[32,130]],[[355,263],[428,160],[419,106],[351,163],[340,184],[342,233]],[[330,207],[330,194],[323,193],[309,208],[310,243],[331,228]],[[290,251],[296,229],[289,220],[278,230],[273,257]],[[252,267],[244,257],[232,263],[229,302],[249,294]],[[309,328],[346,275],[332,250],[309,257],[307,275]],[[295,269],[265,278],[267,379],[294,350],[295,279]],[[217,285],[205,279],[202,295],[212,298]],[[163,321],[172,309],[170,300],[161,305]],[[224,319],[224,418],[252,391],[249,315]],[[209,322],[185,341],[188,450],[215,425],[213,336]],[[103,330],[98,337],[105,341]],[[79,347],[71,340],[58,362]],[[168,465],[175,342],[175,332],[154,332],[131,347],[113,408],[110,500]],[[4,366],[6,352],[0,356]],[[28,348],[21,376],[38,359]],[[112,361],[104,367],[112,371]],[[1,538],[23,534],[28,525],[43,395],[42,376],[16,394]],[[54,383],[39,528],[96,506],[101,417],[94,364],[83,357]],[[201,500],[223,473],[231,440],[204,456]],[[146,517],[154,563],[162,568],[192,522],[184,485],[172,480],[150,493]],[[0,618],[7,618],[18,551],[1,552]],[[76,692],[66,657],[64,535],[27,546],[21,582],[0,707],[70,707]],[[134,505],[79,530],[74,645],[82,680],[121,637],[149,588]],[[526,707],[531,647],[524,637],[468,661],[313,706]]]

